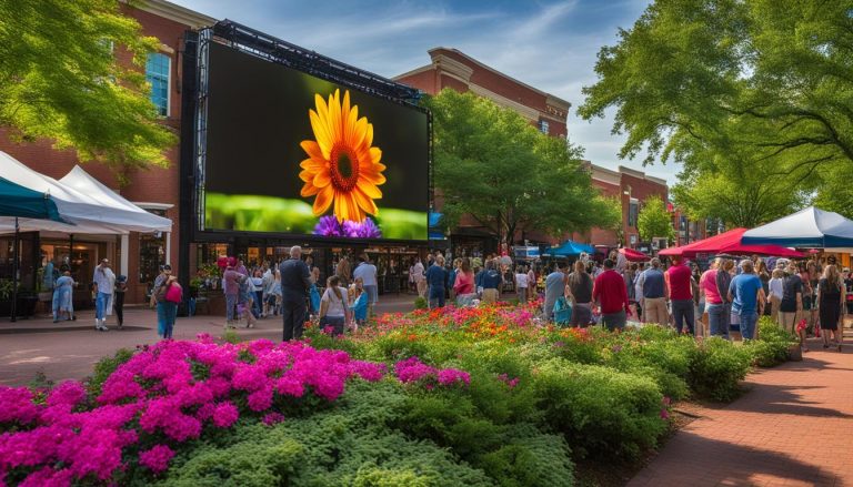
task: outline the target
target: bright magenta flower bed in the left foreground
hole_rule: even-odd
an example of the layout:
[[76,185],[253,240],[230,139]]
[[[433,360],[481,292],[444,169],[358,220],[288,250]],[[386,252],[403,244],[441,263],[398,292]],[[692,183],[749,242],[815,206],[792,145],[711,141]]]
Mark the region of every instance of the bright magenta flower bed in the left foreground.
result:
[[[433,377],[468,384],[468,373],[439,371],[417,358],[399,363],[401,382]],[[401,373],[402,371],[402,373]],[[405,372],[408,371],[408,372]],[[305,343],[217,344],[164,341],[136,354],[103,383],[93,400],[82,383],[49,392],[0,386],[0,486],[114,480],[136,464],[158,474],[181,443],[241,417],[274,425],[282,410],[313,398],[334,402],[347,382],[375,382],[385,365],[353,361]],[[13,479],[12,477],[16,477]]]

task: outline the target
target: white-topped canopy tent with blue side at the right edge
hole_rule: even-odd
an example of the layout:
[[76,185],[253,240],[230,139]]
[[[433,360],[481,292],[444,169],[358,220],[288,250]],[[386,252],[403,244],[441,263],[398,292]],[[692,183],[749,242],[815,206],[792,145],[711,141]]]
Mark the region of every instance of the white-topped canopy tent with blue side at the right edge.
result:
[[837,213],[809,206],[774,222],[747,230],[741,237],[741,243],[849,251],[853,248],[853,221]]

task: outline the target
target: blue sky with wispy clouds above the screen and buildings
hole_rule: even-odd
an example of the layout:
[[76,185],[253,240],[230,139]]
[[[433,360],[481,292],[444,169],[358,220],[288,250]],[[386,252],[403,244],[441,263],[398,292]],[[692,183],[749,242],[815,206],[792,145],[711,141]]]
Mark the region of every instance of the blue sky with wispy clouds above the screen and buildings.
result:
[[642,168],[642,154],[620,161],[624,136],[610,133],[610,116],[585,122],[575,112],[581,88],[595,81],[599,49],[633,24],[646,0],[172,1],[389,78],[429,64],[431,48],[459,49],[571,102],[569,139],[585,149],[585,159],[675,181],[672,163]]

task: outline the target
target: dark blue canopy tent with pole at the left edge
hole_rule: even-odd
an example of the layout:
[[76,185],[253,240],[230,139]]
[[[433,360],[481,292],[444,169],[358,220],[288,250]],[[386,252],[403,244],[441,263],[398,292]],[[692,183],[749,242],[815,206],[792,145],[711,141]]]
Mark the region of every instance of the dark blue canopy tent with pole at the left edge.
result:
[[64,222],[59,216],[57,203],[47,193],[40,193],[0,177],[0,216],[14,217],[14,242],[12,244],[12,321],[18,314],[18,219],[52,220]]

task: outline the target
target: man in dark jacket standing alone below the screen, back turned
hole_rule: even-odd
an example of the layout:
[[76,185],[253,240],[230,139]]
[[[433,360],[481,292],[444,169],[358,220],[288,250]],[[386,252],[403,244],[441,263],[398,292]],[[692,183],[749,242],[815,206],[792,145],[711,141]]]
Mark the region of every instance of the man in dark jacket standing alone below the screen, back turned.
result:
[[302,337],[308,316],[308,290],[311,287],[311,272],[302,262],[302,248],[290,250],[290,260],[279,267],[281,273],[281,315],[284,321],[284,342]]

